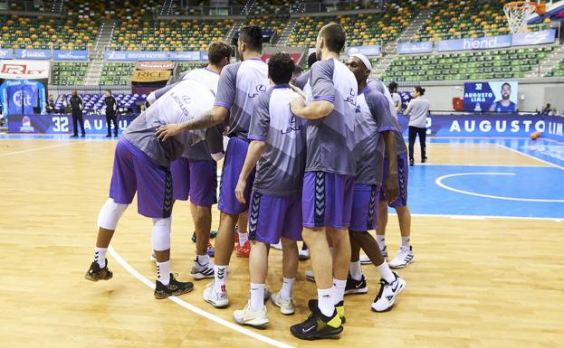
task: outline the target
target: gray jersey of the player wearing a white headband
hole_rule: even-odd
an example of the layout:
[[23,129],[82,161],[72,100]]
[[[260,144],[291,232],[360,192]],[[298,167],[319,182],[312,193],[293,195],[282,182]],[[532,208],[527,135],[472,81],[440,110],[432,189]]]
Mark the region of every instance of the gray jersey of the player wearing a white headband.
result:
[[388,100],[376,89],[364,89],[363,93],[358,95],[357,104],[355,183],[380,185],[384,161],[384,138],[380,133],[397,131],[397,121],[390,112]]

